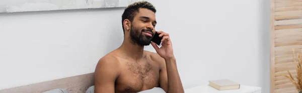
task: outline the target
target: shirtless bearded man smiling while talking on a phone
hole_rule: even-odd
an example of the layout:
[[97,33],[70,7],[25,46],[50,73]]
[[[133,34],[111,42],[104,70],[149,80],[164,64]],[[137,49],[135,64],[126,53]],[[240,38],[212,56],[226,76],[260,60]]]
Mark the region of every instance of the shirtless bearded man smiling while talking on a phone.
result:
[[[162,46],[151,42],[156,30],[156,9],[146,1],[130,4],[122,14],[124,41],[100,58],[95,69],[95,92],[139,92],[161,87],[184,92],[169,34],[158,31]],[[143,50],[152,44],[156,52]]]

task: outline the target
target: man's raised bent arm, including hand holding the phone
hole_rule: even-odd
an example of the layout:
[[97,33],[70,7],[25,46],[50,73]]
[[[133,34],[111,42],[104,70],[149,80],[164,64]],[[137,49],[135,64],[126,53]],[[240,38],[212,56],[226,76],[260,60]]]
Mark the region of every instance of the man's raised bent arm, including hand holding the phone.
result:
[[[160,72],[161,76],[161,86],[163,89],[165,89],[166,92],[168,93],[177,93],[177,92],[184,92],[184,88],[181,83],[181,79],[177,70],[176,66],[176,59],[173,53],[173,47],[172,47],[172,42],[170,39],[169,33],[166,33],[164,31],[157,31],[159,33],[160,37],[163,37],[162,41],[162,46],[159,47],[155,42],[151,42],[152,46],[156,50],[156,52],[164,58],[164,63],[166,64],[165,66],[162,66],[162,71]],[[167,73],[165,73],[165,71]],[[165,76],[167,74],[167,76]],[[168,85],[167,85],[168,82]],[[167,89],[168,87],[168,89]]]

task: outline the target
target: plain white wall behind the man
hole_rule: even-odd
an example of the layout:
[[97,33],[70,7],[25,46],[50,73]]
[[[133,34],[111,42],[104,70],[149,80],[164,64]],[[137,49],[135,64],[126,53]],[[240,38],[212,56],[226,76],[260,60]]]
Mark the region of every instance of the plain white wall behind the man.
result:
[[[269,92],[269,1],[149,1],[158,9],[157,30],[171,34],[185,88],[229,78]],[[123,40],[122,12],[0,14],[0,89],[94,72]]]

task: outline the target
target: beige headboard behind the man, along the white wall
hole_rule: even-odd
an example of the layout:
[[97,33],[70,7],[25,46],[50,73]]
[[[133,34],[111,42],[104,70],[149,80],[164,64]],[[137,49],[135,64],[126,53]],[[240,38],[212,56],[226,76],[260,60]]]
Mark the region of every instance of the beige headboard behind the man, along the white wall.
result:
[[68,93],[85,93],[86,90],[92,85],[94,85],[94,73],[87,73],[72,77],[3,89],[0,90],[0,93],[41,93],[55,88],[67,88]]

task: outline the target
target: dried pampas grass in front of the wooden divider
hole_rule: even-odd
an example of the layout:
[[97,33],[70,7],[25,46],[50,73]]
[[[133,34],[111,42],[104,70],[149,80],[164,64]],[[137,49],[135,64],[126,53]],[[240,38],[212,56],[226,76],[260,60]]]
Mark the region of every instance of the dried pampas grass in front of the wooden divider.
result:
[[298,92],[301,92],[302,90],[302,69],[301,69],[301,65],[302,65],[302,52],[301,53],[297,53],[297,57],[298,57],[298,61],[296,61],[296,59],[294,58],[294,50],[293,51],[293,56],[292,59],[294,62],[296,62],[296,72],[297,72],[297,80],[294,79],[294,77],[291,75],[291,73],[289,72],[289,70],[287,70],[289,76],[284,75],[285,77],[287,77],[292,84],[296,87],[296,89],[298,90]]

